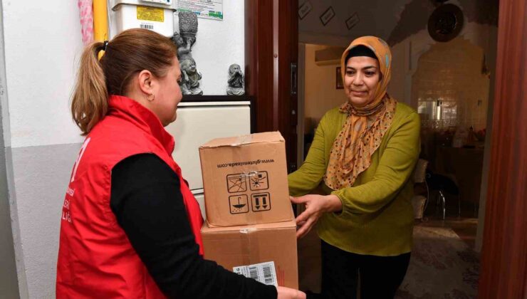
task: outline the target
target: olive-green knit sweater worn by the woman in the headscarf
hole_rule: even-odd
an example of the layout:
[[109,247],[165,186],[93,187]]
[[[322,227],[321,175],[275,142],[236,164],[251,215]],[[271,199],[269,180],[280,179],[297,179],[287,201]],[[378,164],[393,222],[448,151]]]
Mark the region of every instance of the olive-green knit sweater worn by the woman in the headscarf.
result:
[[[302,166],[288,176],[292,196],[310,193],[323,183],[330,150],[348,115],[338,108],[325,113]],[[412,172],[419,156],[419,115],[397,103],[390,129],[372,162],[353,187],[335,194],[340,213],[325,213],[318,221],[318,236],[344,251],[374,256],[397,256],[412,249]]]

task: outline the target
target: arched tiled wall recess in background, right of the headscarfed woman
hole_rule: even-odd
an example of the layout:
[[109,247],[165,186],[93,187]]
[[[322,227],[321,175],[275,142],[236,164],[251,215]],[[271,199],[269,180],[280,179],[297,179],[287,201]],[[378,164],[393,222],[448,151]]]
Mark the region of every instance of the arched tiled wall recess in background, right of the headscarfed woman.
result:
[[432,123],[433,127],[460,125],[473,127],[475,131],[486,127],[490,79],[482,67],[484,64],[483,49],[463,38],[435,43],[422,54],[412,75],[412,106],[428,103],[419,107],[419,113],[424,114],[440,99],[445,104],[453,104],[456,109],[456,119],[452,124],[444,124],[443,120],[434,117],[432,110],[426,111],[427,117],[422,117],[423,127]]

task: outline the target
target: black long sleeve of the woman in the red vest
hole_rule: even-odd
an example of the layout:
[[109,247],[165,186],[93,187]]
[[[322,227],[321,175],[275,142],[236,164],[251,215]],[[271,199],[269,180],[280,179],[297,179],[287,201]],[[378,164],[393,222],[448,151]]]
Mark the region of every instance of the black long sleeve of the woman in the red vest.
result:
[[132,247],[169,298],[276,298],[276,288],[199,256],[179,177],[155,154],[112,170],[110,206]]

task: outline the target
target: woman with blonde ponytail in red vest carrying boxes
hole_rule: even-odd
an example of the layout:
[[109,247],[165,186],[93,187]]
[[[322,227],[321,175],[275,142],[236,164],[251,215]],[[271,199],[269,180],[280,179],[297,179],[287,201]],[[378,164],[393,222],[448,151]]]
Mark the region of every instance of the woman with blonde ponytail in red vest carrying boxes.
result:
[[86,139],[63,204],[57,298],[305,298],[202,257],[202,216],[164,129],[179,80],[176,47],[152,31],[85,49],[71,112]]

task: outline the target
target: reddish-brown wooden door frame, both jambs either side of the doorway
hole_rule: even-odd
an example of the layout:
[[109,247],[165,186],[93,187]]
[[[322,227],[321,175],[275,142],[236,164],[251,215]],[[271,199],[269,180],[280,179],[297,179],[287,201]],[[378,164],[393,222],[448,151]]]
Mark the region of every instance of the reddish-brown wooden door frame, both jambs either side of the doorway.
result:
[[[256,132],[286,133],[288,159],[295,161],[296,140],[288,136],[291,120],[296,119],[291,110],[298,104],[285,96],[284,88],[291,86],[286,61],[296,58],[288,51],[298,46],[298,0],[245,0],[245,9],[246,88],[255,97]],[[527,57],[526,14],[527,1],[500,0],[479,278],[479,298],[483,299],[527,298],[527,130],[522,125],[527,115],[527,73],[522,67]]]

